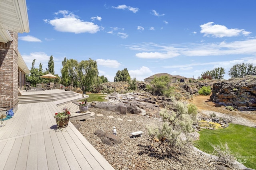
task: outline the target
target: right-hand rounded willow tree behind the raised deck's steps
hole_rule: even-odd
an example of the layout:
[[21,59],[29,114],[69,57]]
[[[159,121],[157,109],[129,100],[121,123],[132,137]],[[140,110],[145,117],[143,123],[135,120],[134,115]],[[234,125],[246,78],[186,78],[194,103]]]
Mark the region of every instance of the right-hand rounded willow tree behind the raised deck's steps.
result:
[[97,62],[92,59],[80,61],[75,66],[74,80],[77,82],[83,94],[91,91],[98,83]]

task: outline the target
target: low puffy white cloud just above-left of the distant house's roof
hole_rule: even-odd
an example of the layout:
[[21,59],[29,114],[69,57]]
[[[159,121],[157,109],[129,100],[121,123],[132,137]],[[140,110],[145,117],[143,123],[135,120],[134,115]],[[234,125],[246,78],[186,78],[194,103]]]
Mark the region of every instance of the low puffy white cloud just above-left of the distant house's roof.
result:
[[136,78],[139,81],[144,81],[144,78],[154,75],[150,68],[142,66],[138,70],[128,70],[131,78]]

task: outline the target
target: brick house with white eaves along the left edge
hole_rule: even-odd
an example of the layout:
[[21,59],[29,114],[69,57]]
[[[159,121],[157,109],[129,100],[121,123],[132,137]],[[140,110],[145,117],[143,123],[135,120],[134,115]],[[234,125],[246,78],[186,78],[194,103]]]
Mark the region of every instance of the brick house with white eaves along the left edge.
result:
[[18,51],[18,33],[29,32],[26,0],[0,0],[0,112],[18,109],[18,88],[30,73]]

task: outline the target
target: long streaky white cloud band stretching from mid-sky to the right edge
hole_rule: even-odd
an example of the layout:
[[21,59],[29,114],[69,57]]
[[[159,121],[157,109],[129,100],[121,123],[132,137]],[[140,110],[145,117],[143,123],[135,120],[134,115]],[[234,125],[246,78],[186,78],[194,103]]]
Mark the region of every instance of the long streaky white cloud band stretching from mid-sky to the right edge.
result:
[[[161,45],[142,43],[128,45],[132,50],[141,51],[136,57],[144,59],[167,59],[184,56],[225,56],[225,55],[256,55],[256,39],[220,43],[191,43],[177,45]],[[143,52],[144,51],[144,52]]]

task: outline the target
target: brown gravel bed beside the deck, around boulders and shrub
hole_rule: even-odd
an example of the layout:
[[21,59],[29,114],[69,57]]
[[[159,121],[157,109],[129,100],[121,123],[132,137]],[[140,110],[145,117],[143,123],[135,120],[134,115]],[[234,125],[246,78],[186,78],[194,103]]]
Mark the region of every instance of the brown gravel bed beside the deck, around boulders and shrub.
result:
[[[150,152],[148,146],[148,132],[146,125],[160,125],[160,120],[146,116],[127,114],[118,115],[112,111],[89,108],[96,118],[86,121],[72,121],[78,123],[78,129],[82,135],[100,152],[100,154],[116,170],[215,170],[214,166],[208,166],[209,158],[204,154],[187,149],[182,154],[174,154],[171,158],[161,157],[158,150]],[[97,116],[102,114],[103,116]],[[111,117],[112,116],[112,117]],[[112,127],[117,129],[117,135],[122,139],[120,145],[112,147],[101,142],[94,135],[97,129],[105,133],[112,133]],[[141,137],[131,138],[130,133],[143,131]]]

